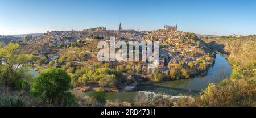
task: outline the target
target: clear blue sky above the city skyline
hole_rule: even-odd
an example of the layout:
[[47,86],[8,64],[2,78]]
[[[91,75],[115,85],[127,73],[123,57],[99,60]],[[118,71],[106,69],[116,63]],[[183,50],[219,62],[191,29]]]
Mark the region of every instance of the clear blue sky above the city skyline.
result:
[[0,0],[0,35],[177,24],[204,35],[255,35],[255,0]]

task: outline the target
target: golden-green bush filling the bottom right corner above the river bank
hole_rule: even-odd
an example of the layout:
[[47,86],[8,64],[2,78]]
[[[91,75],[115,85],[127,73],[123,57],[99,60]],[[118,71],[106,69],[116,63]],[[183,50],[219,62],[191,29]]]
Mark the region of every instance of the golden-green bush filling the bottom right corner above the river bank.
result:
[[238,79],[221,82],[221,86],[210,84],[200,96],[197,106],[243,107],[255,106],[256,79]]

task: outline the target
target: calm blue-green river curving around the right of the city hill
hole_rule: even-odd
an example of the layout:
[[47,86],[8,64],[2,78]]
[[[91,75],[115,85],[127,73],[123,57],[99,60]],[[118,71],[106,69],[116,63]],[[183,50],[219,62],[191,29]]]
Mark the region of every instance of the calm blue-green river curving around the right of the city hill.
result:
[[132,102],[136,91],[149,91],[155,93],[165,93],[167,95],[196,95],[209,85],[209,83],[217,83],[222,79],[229,77],[232,69],[225,57],[217,54],[216,62],[204,77],[195,77],[192,79],[183,79],[168,82],[151,82],[150,84],[138,85],[132,92],[109,92],[107,99],[119,99],[122,101]]

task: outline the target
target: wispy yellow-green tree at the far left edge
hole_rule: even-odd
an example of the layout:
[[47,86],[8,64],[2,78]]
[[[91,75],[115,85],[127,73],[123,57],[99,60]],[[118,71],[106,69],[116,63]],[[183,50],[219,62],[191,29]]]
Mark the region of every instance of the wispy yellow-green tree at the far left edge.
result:
[[24,78],[30,79],[27,76],[26,66],[32,56],[23,54],[19,49],[19,44],[14,43],[9,43],[0,49],[0,81],[7,87],[23,85],[26,81]]

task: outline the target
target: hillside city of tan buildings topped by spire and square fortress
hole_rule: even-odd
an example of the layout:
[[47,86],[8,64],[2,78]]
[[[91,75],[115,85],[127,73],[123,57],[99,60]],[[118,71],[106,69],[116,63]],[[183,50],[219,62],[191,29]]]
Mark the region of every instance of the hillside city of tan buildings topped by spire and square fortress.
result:
[[[126,42],[159,41],[159,66],[151,71],[152,73],[159,71],[163,77],[151,77],[151,74],[147,74],[147,65],[142,62],[106,63],[110,69],[125,68],[122,71],[128,74],[126,76],[131,75],[134,78],[133,85],[142,78],[163,81],[193,77],[203,73],[214,63],[214,53],[194,33],[178,31],[177,26],[168,25],[155,31],[126,30],[122,29],[121,23],[118,30],[107,30],[106,27],[101,26],[83,31],[47,31],[39,36],[27,35],[22,40],[14,42],[22,46],[23,52],[39,58],[36,61],[31,60],[31,64],[36,67],[37,71],[55,66],[68,73],[76,74],[75,72],[83,66],[94,66],[100,63],[96,58],[99,50],[97,43],[102,40],[109,41],[113,36],[117,41]],[[181,69],[180,66],[182,66]],[[175,72],[177,69],[180,69],[180,75]],[[173,71],[172,77],[169,77],[170,71]],[[76,78],[80,81],[79,83],[97,82],[85,80],[82,74],[76,75],[79,77]],[[119,86],[119,88],[125,88],[127,85]],[[110,86],[104,85],[103,87],[108,89]],[[110,88],[116,88],[116,86]]]

